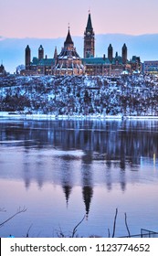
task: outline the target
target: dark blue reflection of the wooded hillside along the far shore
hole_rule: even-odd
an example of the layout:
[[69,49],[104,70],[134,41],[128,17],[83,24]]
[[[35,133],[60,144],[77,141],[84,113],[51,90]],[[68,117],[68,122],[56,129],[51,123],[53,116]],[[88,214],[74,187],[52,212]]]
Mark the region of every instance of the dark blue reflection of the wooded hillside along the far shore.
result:
[[[119,160],[140,164],[141,156],[157,154],[157,122],[97,121],[24,121],[0,123],[1,144],[29,148],[52,147],[62,150],[83,150],[89,160],[104,158],[107,165]],[[85,161],[86,161],[86,156]]]

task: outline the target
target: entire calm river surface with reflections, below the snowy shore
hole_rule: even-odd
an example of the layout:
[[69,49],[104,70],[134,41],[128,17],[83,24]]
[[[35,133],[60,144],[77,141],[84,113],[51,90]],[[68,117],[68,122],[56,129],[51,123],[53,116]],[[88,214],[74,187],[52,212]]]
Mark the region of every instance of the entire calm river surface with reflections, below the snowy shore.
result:
[[158,121],[0,120],[0,236],[158,231]]

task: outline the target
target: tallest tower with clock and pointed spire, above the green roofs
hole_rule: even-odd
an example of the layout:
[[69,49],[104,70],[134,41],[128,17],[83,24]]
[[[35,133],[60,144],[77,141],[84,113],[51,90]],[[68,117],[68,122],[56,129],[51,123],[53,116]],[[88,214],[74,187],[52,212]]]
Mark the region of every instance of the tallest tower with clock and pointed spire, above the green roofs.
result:
[[84,58],[94,57],[94,53],[95,53],[94,36],[95,35],[94,35],[92,23],[91,23],[91,16],[89,13],[87,27],[84,32],[84,52],[83,52]]

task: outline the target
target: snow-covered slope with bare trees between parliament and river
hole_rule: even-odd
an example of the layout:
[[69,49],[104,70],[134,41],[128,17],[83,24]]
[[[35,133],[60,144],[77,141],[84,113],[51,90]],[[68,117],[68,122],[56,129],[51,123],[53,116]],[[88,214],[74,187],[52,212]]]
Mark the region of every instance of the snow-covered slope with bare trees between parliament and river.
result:
[[0,111],[68,116],[158,115],[158,78],[0,78]]

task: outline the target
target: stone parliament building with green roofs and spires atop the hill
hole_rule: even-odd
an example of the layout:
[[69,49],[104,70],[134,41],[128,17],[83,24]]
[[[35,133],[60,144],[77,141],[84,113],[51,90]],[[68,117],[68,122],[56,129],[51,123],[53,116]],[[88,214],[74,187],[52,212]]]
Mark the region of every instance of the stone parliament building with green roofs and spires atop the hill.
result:
[[42,45],[38,48],[38,57],[31,60],[31,49],[26,46],[25,52],[26,69],[21,70],[22,75],[120,75],[132,74],[141,71],[141,59],[132,56],[128,60],[128,49],[124,44],[121,48],[121,56],[113,54],[111,44],[108,47],[107,57],[95,57],[95,33],[92,27],[89,13],[87,27],[84,32],[83,58],[79,57],[74,46],[68,27],[68,35],[61,52],[57,48],[54,51],[53,59],[44,57]]

